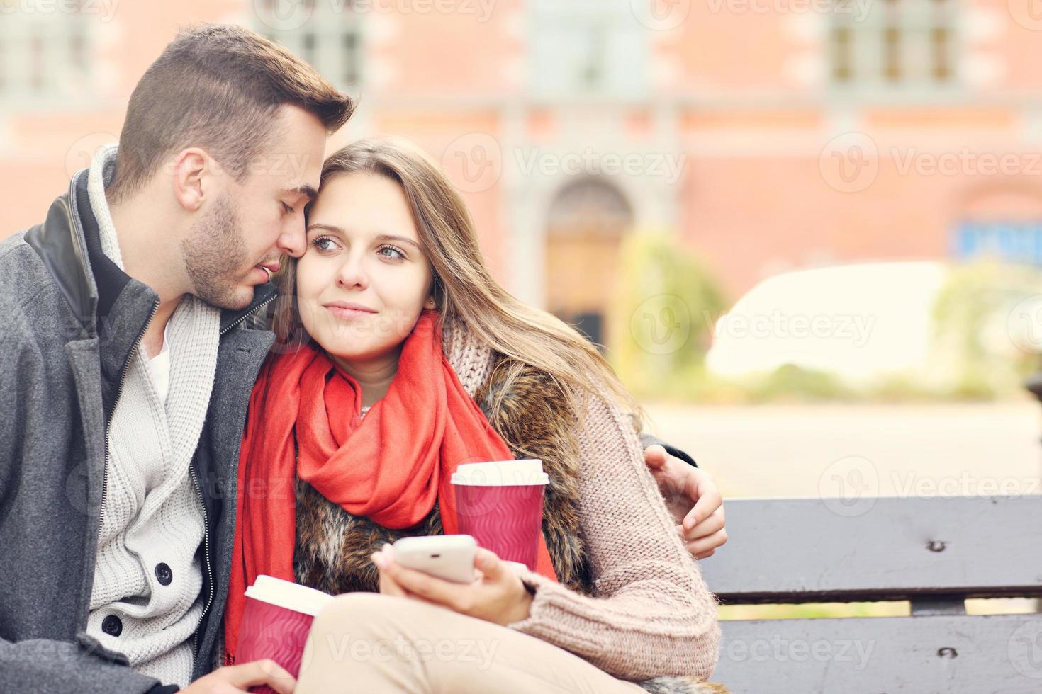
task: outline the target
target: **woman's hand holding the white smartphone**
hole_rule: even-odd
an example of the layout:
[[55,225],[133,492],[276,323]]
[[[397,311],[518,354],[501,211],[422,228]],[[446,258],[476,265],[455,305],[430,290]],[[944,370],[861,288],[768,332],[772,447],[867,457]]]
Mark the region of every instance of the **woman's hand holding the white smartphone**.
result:
[[503,626],[529,615],[531,593],[508,565],[482,547],[474,556],[477,579],[469,584],[443,581],[406,568],[394,561],[390,544],[384,544],[382,551],[373,552],[372,560],[380,570],[380,592],[384,595],[440,605]]

